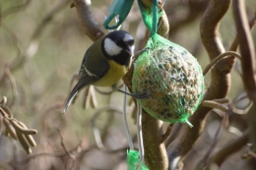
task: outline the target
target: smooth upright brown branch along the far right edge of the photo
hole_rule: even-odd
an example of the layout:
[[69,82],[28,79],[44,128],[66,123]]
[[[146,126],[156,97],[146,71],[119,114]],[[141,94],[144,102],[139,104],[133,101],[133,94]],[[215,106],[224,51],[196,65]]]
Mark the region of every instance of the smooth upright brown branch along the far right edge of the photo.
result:
[[242,79],[249,99],[253,101],[253,112],[248,113],[250,142],[253,143],[253,151],[256,151],[256,79],[255,79],[255,49],[250,33],[248,19],[245,11],[244,0],[234,0],[233,15],[236,26],[238,42],[242,56]]

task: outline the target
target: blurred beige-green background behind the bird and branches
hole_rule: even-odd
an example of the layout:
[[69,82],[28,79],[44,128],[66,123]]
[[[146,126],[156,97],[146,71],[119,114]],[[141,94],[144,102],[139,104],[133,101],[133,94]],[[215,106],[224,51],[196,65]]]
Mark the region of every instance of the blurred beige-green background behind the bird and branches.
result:
[[[96,92],[96,108],[91,105],[85,110],[82,107],[85,93],[82,91],[76,103],[69,107],[65,115],[62,114],[72,77],[78,73],[84,53],[93,43],[80,28],[76,9],[69,8],[71,2],[0,0],[0,97],[7,96],[7,105],[15,101],[10,106],[14,117],[24,122],[27,127],[37,130],[38,133],[34,136],[37,146],[32,148],[32,155],[52,153],[30,157],[18,142],[5,136],[5,128],[2,125],[0,162],[6,167],[9,164],[13,169],[126,169],[125,149],[114,153],[93,150],[86,154],[85,151],[96,146],[92,129],[92,117],[96,110],[109,105],[122,110],[121,93],[102,95]],[[198,6],[191,8],[191,2],[197,2]],[[104,17],[108,15],[107,8],[111,1],[100,0],[92,3],[96,20],[102,24]],[[201,42],[199,25],[207,3],[208,0],[167,0],[164,6],[170,24],[169,39],[187,48],[198,59],[203,69],[209,63],[209,58]],[[255,15],[256,1],[247,0],[246,5],[248,18],[251,19]],[[191,10],[195,13],[190,13]],[[187,19],[189,17],[191,18]],[[137,3],[122,28],[134,35],[137,50],[143,47],[146,28],[142,23]],[[220,31],[224,46],[228,49],[236,34],[231,9],[224,16]],[[255,42],[256,31],[252,31],[252,34]],[[15,97],[12,84],[4,76],[8,66],[17,84]],[[231,100],[244,91],[239,70],[237,62],[232,71],[231,90],[228,94]],[[209,75],[206,77],[206,86],[210,84]],[[243,108],[247,102],[243,100],[237,107]],[[131,116],[133,108],[134,105],[131,105],[128,109],[128,118],[132,134],[136,136]],[[219,125],[220,117],[211,114],[204,134],[185,160],[185,169],[195,167],[204,157]],[[224,130],[226,132],[220,137],[218,146],[239,136],[240,131],[245,129],[245,125],[237,126],[238,128],[233,130],[235,135]],[[106,147],[127,147],[123,120],[119,112],[103,111],[96,118],[96,127],[101,132]],[[73,151],[77,154],[81,153],[81,150],[85,152],[75,161],[67,155],[64,147],[68,150],[75,149]],[[63,156],[59,156],[61,153]],[[235,155],[236,157],[228,159],[221,169],[246,169],[246,162],[240,159],[241,153]]]

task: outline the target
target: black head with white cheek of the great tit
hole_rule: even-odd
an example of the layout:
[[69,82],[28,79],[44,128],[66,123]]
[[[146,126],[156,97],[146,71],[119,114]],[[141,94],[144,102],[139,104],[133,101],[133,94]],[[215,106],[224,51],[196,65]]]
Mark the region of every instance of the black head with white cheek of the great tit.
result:
[[134,52],[134,38],[124,30],[112,31],[103,38],[101,50],[109,60],[129,66]]

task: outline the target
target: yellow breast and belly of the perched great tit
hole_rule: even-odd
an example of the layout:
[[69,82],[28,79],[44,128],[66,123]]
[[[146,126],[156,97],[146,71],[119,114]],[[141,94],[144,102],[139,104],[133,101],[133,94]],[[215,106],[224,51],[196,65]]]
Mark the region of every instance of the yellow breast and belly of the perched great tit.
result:
[[109,69],[106,74],[93,85],[96,86],[111,86],[117,83],[127,72],[126,66],[117,64],[114,61],[109,61]]

